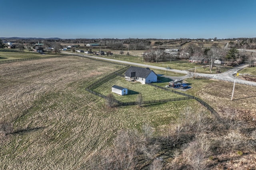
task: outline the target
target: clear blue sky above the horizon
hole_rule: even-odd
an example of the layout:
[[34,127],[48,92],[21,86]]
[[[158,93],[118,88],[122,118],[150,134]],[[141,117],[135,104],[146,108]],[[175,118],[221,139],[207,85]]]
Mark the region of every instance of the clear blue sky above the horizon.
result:
[[0,37],[256,37],[256,0],[1,0]]

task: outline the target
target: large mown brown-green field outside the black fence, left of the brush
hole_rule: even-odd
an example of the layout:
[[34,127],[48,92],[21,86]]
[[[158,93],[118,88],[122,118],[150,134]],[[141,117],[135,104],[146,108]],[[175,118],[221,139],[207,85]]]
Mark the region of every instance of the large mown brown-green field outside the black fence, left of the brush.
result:
[[188,100],[106,108],[85,87],[118,69],[80,57],[1,64],[0,167],[79,169],[121,129],[161,129],[187,106],[202,107]]

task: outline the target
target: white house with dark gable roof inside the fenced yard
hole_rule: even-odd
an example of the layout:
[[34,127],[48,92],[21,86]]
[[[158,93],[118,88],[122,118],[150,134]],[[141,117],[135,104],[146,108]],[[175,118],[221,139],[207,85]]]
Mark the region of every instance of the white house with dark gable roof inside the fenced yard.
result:
[[124,73],[125,80],[128,81],[138,81],[142,84],[156,82],[157,75],[154,71],[149,68],[142,68],[136,66],[130,66],[128,70]]

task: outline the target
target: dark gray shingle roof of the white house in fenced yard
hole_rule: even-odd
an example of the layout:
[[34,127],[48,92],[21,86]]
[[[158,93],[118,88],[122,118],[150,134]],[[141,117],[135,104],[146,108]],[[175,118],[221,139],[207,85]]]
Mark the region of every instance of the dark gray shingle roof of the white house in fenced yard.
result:
[[154,72],[154,71],[150,70],[149,68],[130,66],[130,68],[128,68],[128,70],[124,73],[124,75],[131,77],[132,72],[135,72],[136,77],[146,78],[151,72]]

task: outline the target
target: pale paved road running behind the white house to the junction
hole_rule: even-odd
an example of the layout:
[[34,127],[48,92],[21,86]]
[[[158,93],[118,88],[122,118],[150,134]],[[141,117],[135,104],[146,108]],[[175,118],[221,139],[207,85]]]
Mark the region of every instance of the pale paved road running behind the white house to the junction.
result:
[[[69,52],[62,52],[65,54],[72,54],[72,55],[78,55],[78,54],[74,54],[74,53],[69,53]],[[182,74],[186,74],[186,76],[181,76],[181,77],[172,77],[172,76],[168,76],[169,78],[172,79],[184,79],[184,78],[189,78],[189,72],[186,70],[176,70],[176,69],[166,69],[164,67],[160,67],[160,66],[152,66],[152,65],[147,65],[147,64],[140,64],[140,63],[132,63],[132,62],[128,62],[128,61],[120,61],[120,60],[115,60],[115,59],[106,59],[104,57],[95,57],[95,56],[90,56],[90,55],[84,55],[87,57],[91,57],[94,59],[102,59],[102,60],[106,60],[106,61],[113,61],[116,63],[123,63],[123,64],[128,64],[128,65],[137,65],[137,66],[143,66],[143,67],[148,67],[148,68],[155,68],[155,69],[159,69],[159,70],[168,70],[168,71],[172,71],[172,72],[178,72],[178,73],[182,73]],[[196,76],[203,76],[203,77],[209,77],[209,78],[214,78],[214,79],[218,79],[218,80],[227,80],[230,82],[234,82],[235,77],[233,76],[233,74],[236,74],[239,70],[241,70],[242,68],[246,68],[248,66],[248,64],[242,64],[240,66],[236,66],[234,68],[232,68],[231,70],[228,70],[227,72],[223,72],[220,74],[203,74],[203,73],[196,73]],[[256,82],[251,82],[251,81],[246,81],[246,80],[242,80],[239,78],[236,78],[236,82],[241,83],[241,84],[249,84],[252,86],[256,86]]]

